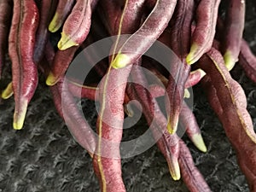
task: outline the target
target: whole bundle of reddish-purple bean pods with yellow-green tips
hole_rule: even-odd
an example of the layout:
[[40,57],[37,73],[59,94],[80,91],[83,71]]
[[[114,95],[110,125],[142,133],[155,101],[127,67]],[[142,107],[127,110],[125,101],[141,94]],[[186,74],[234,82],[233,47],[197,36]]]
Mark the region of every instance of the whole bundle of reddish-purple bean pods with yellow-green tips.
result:
[[[225,9],[220,12],[221,3]],[[172,178],[182,177],[190,191],[211,191],[195,167],[189,148],[177,135],[180,119],[195,146],[207,151],[195,116],[183,102],[187,89],[201,83],[236,150],[250,190],[256,191],[256,135],[246,96],[229,73],[238,61],[256,82],[256,57],[242,39],[245,1],[1,0],[0,4],[1,72],[6,54],[12,63],[12,81],[2,97],[15,97],[16,130],[23,127],[38,74],[43,73],[55,108],[75,140],[90,153],[102,191],[123,192],[119,144],[125,113],[132,115],[127,103],[137,100]],[[123,34],[131,35],[124,40],[120,38]],[[66,80],[75,55],[110,36],[117,38],[108,59],[93,67],[98,81],[79,84],[75,77]],[[176,60],[170,59],[170,72],[143,56],[156,41],[177,55]],[[142,68],[154,73],[164,87],[151,84]],[[143,82],[150,91],[141,84],[131,84],[129,77]],[[157,102],[159,96],[165,96],[165,109]],[[97,138],[79,112],[75,97],[100,103]],[[106,141],[113,145],[106,146]]]

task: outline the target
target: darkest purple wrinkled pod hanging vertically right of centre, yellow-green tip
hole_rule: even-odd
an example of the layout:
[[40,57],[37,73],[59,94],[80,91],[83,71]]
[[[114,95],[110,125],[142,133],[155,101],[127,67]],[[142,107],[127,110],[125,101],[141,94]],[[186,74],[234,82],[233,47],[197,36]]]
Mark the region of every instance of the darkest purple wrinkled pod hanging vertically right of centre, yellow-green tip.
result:
[[[194,15],[194,1],[178,1],[174,20],[171,20],[171,34],[169,47],[177,55],[170,61],[170,76],[166,91],[168,94],[166,110],[168,115],[167,129],[170,133],[177,131],[179,113],[183,105],[185,82],[189,78],[190,66],[185,61],[189,53],[189,42],[191,33],[192,15]],[[175,18],[178,19],[175,19]],[[183,38],[185,35],[186,38]]]

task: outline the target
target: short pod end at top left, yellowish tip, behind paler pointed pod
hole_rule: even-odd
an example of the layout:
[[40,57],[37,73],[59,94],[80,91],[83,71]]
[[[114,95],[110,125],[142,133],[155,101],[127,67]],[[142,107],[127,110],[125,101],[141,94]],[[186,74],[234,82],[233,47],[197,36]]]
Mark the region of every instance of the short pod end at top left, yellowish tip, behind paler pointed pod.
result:
[[67,19],[67,16],[70,14],[74,0],[60,0],[55,11],[55,15],[49,23],[49,32],[57,32],[64,21]]

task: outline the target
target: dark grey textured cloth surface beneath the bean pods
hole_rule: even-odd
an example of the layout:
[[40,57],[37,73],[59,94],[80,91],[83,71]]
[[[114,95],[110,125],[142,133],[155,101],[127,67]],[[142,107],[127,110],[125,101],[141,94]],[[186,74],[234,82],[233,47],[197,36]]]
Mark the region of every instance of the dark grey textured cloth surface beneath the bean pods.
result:
[[[245,38],[256,53],[256,11],[253,1],[247,1]],[[5,69],[5,74],[9,69]],[[9,75],[3,84],[9,82]],[[247,95],[247,109],[256,127],[256,85],[247,79],[236,66],[232,76],[241,83]],[[2,85],[3,85],[2,84]],[[43,84],[43,85],[42,85]],[[3,88],[3,87],[1,87]],[[200,86],[194,89],[195,115],[201,125],[207,144],[206,154],[199,152],[187,137],[195,165],[207,180],[212,191],[248,191],[245,177],[236,164],[230,143],[225,137],[206,96]],[[85,117],[93,125],[96,121],[94,104],[83,101]],[[67,126],[55,111],[49,89],[41,79],[40,85],[26,115],[21,131],[14,131],[12,118],[13,98],[0,104],[0,191],[1,192],[95,192],[99,191],[89,154],[79,146],[67,130]],[[125,133],[125,138],[137,137],[147,126],[143,121],[139,131]],[[166,160],[156,146],[136,157],[122,160],[123,178],[127,192],[187,192],[182,180],[174,182],[170,177]]]

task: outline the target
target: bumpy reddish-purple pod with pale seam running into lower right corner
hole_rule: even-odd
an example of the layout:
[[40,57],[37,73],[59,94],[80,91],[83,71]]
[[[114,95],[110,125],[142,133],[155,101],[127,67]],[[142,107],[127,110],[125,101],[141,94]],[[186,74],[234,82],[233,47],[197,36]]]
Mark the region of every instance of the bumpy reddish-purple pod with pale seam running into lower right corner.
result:
[[[208,63],[208,65],[206,65]],[[238,164],[245,174],[251,191],[256,189],[256,134],[247,112],[247,99],[241,85],[231,78],[224,66],[224,59],[216,49],[211,49],[200,61],[200,67],[211,79],[212,87],[220,106],[213,107],[218,115],[230,143],[236,150]],[[208,96],[212,100],[212,96]]]

